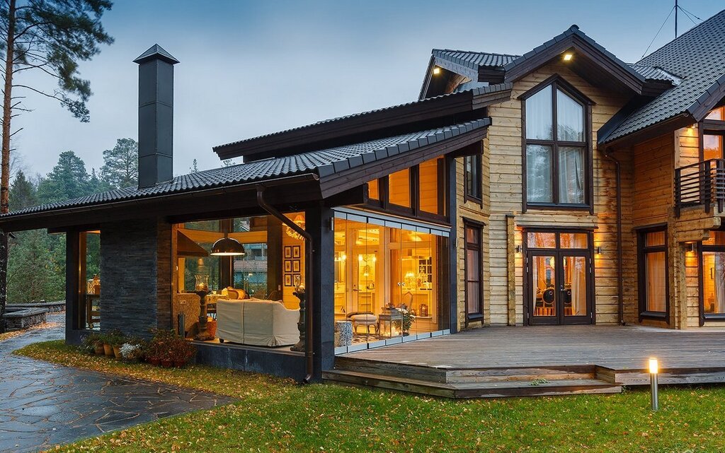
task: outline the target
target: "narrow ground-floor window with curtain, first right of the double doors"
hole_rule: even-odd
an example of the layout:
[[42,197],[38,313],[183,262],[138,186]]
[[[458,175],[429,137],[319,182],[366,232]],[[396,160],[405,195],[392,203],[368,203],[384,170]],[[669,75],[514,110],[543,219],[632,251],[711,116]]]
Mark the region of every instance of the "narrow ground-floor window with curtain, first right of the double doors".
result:
[[666,319],[669,313],[666,229],[639,232],[637,247],[639,316]]

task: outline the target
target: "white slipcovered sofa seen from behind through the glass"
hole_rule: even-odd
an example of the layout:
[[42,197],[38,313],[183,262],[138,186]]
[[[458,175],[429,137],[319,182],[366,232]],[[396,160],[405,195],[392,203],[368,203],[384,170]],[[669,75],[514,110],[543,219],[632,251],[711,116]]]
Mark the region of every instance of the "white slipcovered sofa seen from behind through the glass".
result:
[[219,300],[217,337],[220,342],[254,346],[289,346],[299,341],[299,310],[272,300]]

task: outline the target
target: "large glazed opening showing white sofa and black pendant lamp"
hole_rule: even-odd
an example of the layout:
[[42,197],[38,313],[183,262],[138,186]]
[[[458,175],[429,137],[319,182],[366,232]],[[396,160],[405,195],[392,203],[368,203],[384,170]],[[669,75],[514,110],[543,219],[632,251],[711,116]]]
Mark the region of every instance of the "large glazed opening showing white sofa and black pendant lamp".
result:
[[[286,216],[305,228],[305,213]],[[287,350],[297,343],[298,291],[305,282],[300,234],[274,216],[250,216],[178,224],[175,235],[173,321],[179,331],[202,341]],[[215,242],[225,238],[239,242],[244,253],[212,255]],[[204,288],[205,323],[198,292]]]

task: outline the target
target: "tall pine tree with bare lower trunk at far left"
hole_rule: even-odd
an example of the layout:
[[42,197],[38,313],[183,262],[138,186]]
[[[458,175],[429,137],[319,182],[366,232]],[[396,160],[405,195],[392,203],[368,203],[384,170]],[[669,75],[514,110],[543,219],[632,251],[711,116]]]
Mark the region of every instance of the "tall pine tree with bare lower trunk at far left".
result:
[[[0,156],[0,214],[9,211],[10,139],[12,118],[22,111],[24,93],[56,99],[80,121],[88,121],[86,101],[91,84],[78,76],[78,62],[98,54],[99,44],[113,42],[101,25],[110,0],[4,0],[0,3],[0,56],[4,67],[2,148]],[[21,71],[57,80],[49,92],[16,79]],[[20,94],[22,93],[22,94]],[[17,131],[16,131],[17,132]],[[4,331],[7,302],[8,237],[0,233],[0,332]]]

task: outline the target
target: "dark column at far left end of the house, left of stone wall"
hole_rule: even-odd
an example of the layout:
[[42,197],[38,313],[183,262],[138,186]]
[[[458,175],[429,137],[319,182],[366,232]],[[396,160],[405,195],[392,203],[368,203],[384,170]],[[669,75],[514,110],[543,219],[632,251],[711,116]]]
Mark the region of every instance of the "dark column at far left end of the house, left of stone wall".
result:
[[65,341],[79,341],[78,330],[83,328],[83,295],[86,290],[86,233],[65,233]]

